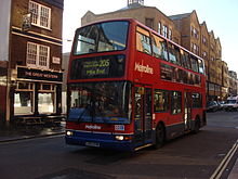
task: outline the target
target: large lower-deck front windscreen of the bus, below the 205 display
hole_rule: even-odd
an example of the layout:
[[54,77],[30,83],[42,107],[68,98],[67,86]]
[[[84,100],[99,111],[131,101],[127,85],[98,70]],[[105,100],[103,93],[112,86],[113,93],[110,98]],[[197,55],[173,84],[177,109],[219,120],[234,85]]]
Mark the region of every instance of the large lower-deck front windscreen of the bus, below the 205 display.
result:
[[78,123],[129,124],[130,82],[85,82],[70,85],[67,120]]

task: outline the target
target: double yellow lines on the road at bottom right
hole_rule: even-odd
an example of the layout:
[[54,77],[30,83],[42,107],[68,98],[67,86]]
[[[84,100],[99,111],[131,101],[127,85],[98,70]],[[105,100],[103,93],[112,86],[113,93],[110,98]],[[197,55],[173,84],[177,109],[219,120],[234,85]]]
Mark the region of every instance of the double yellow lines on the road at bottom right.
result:
[[219,165],[219,167],[215,169],[215,171],[210,177],[210,179],[220,179],[220,177],[224,172],[225,168],[227,167],[228,163],[230,162],[237,149],[238,149],[238,140],[234,143],[233,148],[229,150],[229,152],[227,153],[225,158],[222,161],[222,163]]

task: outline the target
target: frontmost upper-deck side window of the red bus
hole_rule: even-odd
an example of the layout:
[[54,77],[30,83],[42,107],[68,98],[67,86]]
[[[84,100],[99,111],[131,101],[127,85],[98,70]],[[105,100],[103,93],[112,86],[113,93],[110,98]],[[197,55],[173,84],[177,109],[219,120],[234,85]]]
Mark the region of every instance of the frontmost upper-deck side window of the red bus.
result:
[[149,33],[141,27],[136,28],[136,49],[141,52],[151,54]]

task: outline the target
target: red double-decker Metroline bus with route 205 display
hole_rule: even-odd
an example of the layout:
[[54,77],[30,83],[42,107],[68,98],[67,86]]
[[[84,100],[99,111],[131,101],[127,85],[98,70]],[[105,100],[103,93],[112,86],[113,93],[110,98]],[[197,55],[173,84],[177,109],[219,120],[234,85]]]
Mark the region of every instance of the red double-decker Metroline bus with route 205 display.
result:
[[206,125],[203,61],[135,20],[76,30],[66,143],[136,151]]

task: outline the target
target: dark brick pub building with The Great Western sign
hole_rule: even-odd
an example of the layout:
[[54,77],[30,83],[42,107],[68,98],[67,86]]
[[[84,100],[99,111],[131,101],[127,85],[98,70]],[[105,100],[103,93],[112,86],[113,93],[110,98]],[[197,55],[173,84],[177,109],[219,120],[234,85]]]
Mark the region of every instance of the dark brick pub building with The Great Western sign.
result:
[[64,0],[3,1],[9,7],[9,21],[1,26],[10,26],[5,28],[9,37],[4,49],[9,54],[0,60],[8,71],[1,122],[57,118],[62,113]]

